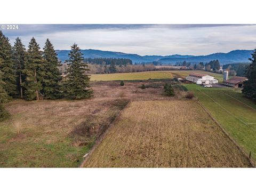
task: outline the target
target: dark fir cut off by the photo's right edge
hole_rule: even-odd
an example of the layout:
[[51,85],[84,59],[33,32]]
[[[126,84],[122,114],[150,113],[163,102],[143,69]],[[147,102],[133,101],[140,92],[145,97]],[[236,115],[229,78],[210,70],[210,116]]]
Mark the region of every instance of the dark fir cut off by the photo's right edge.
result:
[[252,53],[252,58],[249,58],[249,60],[251,63],[245,70],[245,77],[248,78],[248,81],[244,83],[242,92],[248,97],[256,100],[256,49]]

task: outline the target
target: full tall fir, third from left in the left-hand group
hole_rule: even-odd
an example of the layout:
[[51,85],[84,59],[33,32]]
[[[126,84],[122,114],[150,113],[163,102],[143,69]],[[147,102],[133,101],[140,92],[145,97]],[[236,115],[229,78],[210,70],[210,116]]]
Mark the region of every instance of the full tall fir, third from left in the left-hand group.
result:
[[26,77],[26,81],[23,85],[26,89],[25,95],[27,100],[39,100],[40,95],[42,94],[42,82],[44,81],[43,77],[45,74],[44,63],[43,53],[40,50],[36,39],[33,37],[28,45],[25,67],[23,70]]

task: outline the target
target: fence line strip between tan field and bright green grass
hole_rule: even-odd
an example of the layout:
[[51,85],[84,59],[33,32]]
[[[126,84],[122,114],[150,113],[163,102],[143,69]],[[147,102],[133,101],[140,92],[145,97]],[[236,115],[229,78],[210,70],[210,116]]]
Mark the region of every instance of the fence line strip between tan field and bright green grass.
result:
[[206,109],[206,107],[204,107],[204,105],[199,101],[199,100],[197,100],[196,101],[198,104],[199,104],[199,106],[201,106],[204,110],[205,110],[205,112],[211,117],[211,119],[213,120],[213,122],[215,123],[215,124],[217,124],[219,127],[220,127],[220,129],[222,130],[222,132],[235,144],[235,146],[238,148],[238,150],[239,151],[241,151],[241,153],[247,158],[247,160],[251,163],[251,165],[253,166],[253,167],[256,167],[256,161],[253,161],[253,159],[251,159],[250,158],[250,155],[248,155],[247,153],[246,153],[246,151],[242,148],[242,147],[240,147],[239,145],[238,145],[238,143],[229,135],[229,133],[221,126],[221,124],[217,121],[217,119],[215,119],[213,116],[212,116],[212,114],[210,113],[210,111],[208,110],[208,109]]

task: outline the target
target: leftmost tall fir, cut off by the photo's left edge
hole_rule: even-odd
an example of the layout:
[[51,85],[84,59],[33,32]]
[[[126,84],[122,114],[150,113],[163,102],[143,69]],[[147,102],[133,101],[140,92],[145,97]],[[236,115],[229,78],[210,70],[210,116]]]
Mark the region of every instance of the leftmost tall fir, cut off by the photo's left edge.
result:
[[16,71],[9,39],[0,31],[0,70],[3,72],[3,88],[11,97],[17,95]]

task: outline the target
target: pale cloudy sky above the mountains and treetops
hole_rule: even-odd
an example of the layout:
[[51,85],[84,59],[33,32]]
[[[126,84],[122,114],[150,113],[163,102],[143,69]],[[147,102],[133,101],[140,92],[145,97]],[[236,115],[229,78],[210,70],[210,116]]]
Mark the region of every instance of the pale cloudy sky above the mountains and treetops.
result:
[[139,55],[207,55],[256,47],[256,25],[18,25],[3,29],[13,44],[28,46],[35,37],[41,48],[47,38],[56,50],[97,49]]

